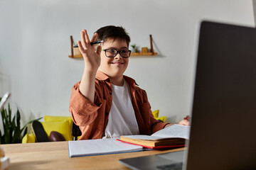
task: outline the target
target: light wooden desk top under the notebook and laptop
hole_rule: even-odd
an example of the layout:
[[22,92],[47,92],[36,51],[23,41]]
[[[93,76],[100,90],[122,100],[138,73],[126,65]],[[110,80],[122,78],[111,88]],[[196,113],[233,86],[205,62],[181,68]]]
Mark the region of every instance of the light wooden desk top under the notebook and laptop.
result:
[[128,169],[119,164],[119,159],[140,157],[183,150],[151,150],[124,154],[105,154],[92,157],[68,157],[68,142],[41,142],[1,145],[10,157],[12,169]]

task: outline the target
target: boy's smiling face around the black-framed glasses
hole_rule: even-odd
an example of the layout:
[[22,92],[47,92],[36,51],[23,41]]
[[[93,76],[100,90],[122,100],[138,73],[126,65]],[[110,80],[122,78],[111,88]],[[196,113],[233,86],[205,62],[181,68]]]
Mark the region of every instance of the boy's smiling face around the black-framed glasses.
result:
[[[102,45],[102,50],[106,49],[128,50],[128,45],[125,40],[109,38]],[[129,58],[123,58],[119,52],[115,57],[107,57],[105,51],[102,51],[100,59],[99,70],[112,78],[122,77],[129,62]]]

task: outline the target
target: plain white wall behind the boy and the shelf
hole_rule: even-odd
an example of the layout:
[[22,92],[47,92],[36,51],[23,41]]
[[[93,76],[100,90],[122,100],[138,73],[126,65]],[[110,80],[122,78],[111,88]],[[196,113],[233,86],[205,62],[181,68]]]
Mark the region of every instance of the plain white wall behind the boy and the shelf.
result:
[[[199,22],[254,26],[251,0],[0,0],[0,95],[23,122],[70,115],[70,91],[82,76],[82,60],[70,59],[70,35],[123,26],[132,43],[157,57],[131,57],[126,75],[148,93],[152,110],[174,123],[191,111]],[[7,85],[6,85],[7,84]]]

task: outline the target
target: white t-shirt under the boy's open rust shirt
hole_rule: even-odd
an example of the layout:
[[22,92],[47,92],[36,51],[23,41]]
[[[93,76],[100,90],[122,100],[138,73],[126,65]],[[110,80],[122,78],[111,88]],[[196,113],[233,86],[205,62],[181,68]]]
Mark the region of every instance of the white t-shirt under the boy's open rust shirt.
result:
[[132,106],[129,85],[124,80],[124,86],[112,86],[112,106],[108,117],[105,136],[116,138],[120,135],[139,135],[139,127]]

